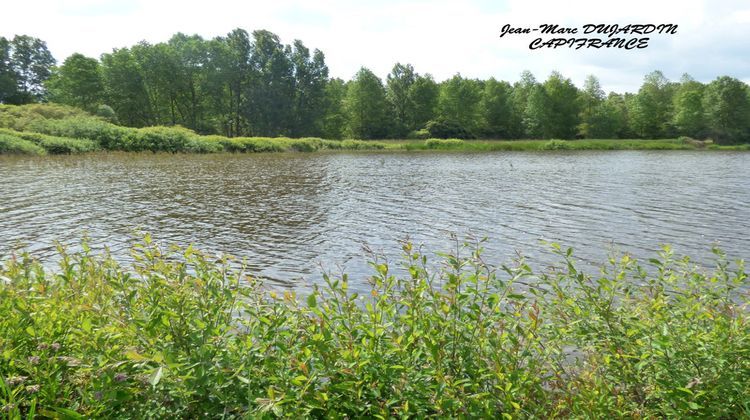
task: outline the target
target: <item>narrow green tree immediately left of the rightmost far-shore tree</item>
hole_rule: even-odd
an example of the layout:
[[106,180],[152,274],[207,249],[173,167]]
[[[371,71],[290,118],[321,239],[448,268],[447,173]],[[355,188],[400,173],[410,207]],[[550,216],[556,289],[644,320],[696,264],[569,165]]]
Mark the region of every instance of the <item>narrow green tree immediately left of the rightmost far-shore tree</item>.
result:
[[702,137],[706,130],[703,111],[705,86],[684,74],[674,96],[674,126],[684,136]]

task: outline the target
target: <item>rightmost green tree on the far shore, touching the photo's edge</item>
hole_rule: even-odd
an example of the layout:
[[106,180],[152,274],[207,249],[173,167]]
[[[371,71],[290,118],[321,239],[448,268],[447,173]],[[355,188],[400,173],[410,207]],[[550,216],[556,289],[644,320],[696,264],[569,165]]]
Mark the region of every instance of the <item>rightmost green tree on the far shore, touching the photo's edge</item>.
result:
[[703,108],[711,136],[719,143],[750,141],[748,86],[721,76],[706,86]]

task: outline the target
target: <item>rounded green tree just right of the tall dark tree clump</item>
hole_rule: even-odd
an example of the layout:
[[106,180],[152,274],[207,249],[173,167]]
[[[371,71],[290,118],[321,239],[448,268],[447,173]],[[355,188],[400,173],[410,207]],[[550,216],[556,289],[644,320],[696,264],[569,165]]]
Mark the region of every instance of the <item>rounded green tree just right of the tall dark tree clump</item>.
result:
[[380,78],[362,67],[346,95],[348,135],[360,139],[385,138],[389,132],[388,101]]

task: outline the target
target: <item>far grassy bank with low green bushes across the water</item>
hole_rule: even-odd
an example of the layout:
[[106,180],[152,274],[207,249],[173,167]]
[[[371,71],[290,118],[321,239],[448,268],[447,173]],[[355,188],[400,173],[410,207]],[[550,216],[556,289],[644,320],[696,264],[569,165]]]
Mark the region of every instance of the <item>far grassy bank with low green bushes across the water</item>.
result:
[[0,105],[0,154],[71,154],[95,150],[167,153],[314,152],[320,150],[750,150],[688,138],[661,140],[324,140],[201,136],[181,127],[128,128],[75,108]]

